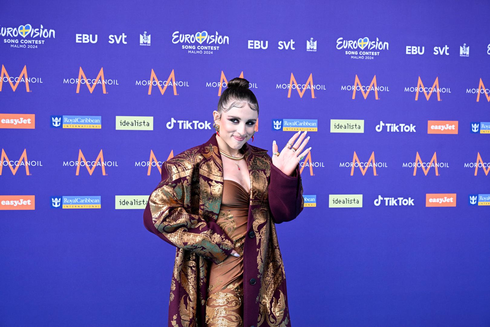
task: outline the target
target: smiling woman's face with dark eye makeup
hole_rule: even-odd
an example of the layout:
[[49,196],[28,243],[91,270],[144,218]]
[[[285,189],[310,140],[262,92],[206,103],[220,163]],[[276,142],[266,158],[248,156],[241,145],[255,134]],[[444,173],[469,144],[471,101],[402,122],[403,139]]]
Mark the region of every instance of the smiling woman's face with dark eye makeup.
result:
[[[233,107],[228,111],[213,112],[215,122],[220,126],[220,137],[232,149],[241,149],[252,137],[259,114],[250,109],[248,103],[241,108]],[[219,119],[217,119],[219,118]]]

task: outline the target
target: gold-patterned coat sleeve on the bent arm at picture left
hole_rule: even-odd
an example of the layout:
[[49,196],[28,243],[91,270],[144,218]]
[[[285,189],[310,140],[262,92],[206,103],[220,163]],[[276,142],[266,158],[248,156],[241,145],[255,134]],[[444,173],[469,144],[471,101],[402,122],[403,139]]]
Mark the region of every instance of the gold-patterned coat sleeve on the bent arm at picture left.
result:
[[145,227],[177,248],[221,263],[233,250],[233,241],[215,222],[189,212],[192,170],[172,173],[172,164],[164,165],[162,180],[149,196],[143,214]]

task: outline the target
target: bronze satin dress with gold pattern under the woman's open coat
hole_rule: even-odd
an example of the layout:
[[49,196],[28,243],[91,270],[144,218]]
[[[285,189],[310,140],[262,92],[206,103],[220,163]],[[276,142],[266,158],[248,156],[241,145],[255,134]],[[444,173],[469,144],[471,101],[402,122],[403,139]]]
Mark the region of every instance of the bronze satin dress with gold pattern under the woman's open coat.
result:
[[243,326],[243,254],[250,194],[239,183],[224,179],[217,224],[233,240],[239,257],[211,263],[206,301],[206,327]]

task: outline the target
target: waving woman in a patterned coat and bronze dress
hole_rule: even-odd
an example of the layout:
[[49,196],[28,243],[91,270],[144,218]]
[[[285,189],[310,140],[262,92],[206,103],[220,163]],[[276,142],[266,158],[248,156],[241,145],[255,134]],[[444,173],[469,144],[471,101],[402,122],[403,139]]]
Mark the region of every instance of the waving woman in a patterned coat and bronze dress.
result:
[[162,165],[144,222],[177,247],[169,326],[291,326],[274,223],[303,209],[298,163],[311,148],[306,132],[280,152],[274,141],[272,158],[248,145],[258,114],[248,81],[230,80],[216,134]]

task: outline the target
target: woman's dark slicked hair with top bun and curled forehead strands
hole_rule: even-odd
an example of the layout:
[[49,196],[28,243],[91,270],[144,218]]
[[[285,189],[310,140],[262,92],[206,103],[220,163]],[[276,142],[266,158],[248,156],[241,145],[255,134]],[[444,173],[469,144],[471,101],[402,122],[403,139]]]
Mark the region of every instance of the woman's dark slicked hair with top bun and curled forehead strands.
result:
[[259,103],[253,92],[248,88],[249,82],[245,78],[235,77],[228,82],[228,87],[221,93],[218,101],[219,113],[228,111],[233,107],[242,108],[245,103],[250,109],[259,113]]

